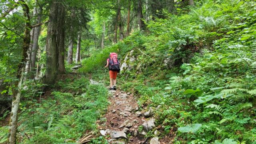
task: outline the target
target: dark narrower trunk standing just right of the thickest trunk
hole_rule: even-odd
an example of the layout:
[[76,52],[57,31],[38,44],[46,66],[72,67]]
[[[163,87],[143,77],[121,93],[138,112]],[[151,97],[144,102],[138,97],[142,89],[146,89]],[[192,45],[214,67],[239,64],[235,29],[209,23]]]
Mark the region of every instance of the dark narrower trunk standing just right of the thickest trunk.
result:
[[65,69],[65,7],[58,8],[58,73],[66,73]]

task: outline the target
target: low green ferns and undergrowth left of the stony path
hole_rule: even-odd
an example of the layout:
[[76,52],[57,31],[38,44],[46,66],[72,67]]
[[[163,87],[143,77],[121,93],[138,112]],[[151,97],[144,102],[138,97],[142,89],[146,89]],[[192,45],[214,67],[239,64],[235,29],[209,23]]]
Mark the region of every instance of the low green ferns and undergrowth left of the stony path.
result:
[[[31,138],[21,143],[64,143],[66,139],[78,140],[85,131],[96,129],[95,122],[108,105],[104,85],[91,85],[84,76],[73,76],[59,81],[55,88],[70,93],[53,91],[41,103],[22,103],[18,130]],[[81,93],[72,95],[73,90]]]

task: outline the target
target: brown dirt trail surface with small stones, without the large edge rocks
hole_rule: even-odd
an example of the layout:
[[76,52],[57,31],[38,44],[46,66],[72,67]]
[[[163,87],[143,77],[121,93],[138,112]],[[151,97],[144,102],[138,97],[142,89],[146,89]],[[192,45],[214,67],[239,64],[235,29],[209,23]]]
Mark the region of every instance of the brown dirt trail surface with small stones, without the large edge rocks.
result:
[[[140,144],[144,142],[145,138],[139,134],[138,127],[147,120],[138,111],[137,101],[133,95],[123,91],[110,91],[109,101],[111,104],[105,114],[106,123],[100,124],[99,128],[102,130],[101,132],[106,132],[106,135],[110,134],[108,142],[114,144]],[[120,138],[114,140],[113,131],[122,132]],[[122,137],[123,132],[126,133],[127,139]]]

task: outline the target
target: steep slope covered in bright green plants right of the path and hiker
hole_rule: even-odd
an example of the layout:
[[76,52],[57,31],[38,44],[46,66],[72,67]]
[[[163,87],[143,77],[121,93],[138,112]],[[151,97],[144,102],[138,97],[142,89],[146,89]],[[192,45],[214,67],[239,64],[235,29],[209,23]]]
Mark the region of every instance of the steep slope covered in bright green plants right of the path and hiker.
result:
[[161,105],[154,111],[160,139],[255,143],[255,6],[210,0],[188,14],[150,21],[148,32],[95,53],[80,71],[102,80],[109,52],[119,53],[119,88],[133,93],[140,108]]

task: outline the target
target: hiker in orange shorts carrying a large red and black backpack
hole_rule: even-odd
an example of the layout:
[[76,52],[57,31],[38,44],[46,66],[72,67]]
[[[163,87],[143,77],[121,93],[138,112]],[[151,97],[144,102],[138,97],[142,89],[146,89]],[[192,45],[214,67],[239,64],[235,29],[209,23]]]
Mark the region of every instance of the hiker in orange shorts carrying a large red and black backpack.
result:
[[120,72],[120,62],[116,53],[110,53],[105,66],[109,69],[110,90],[116,91],[116,76]]

